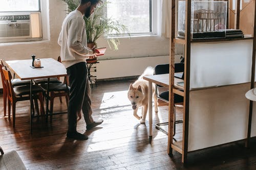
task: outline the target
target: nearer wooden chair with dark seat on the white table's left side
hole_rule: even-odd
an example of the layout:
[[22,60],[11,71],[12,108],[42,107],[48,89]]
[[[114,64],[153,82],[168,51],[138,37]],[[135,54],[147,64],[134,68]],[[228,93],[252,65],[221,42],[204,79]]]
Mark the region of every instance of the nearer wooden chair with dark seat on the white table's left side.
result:
[[[16,103],[19,101],[30,101],[30,86],[16,86],[13,87],[12,85],[12,75],[9,70],[4,66],[2,67],[2,72],[4,75],[4,80],[7,88],[7,98],[8,98],[8,117],[10,118],[11,115],[11,106],[12,106],[12,122],[13,127],[15,127],[15,114],[16,114]],[[42,97],[42,89],[38,85],[32,85],[32,99],[37,100],[40,102],[40,112],[42,115],[45,114],[44,109],[44,100]],[[37,105],[38,107],[38,105]],[[37,114],[39,114],[39,109],[37,109]]]

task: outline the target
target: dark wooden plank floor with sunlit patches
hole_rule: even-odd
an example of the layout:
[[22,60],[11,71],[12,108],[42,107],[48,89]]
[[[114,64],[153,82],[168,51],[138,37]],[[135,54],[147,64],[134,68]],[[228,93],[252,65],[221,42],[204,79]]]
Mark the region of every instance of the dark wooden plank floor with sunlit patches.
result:
[[[245,149],[244,142],[235,142],[204,151],[190,153],[188,163],[181,155],[167,155],[167,136],[153,128],[148,143],[148,117],[145,125],[133,116],[127,100],[132,81],[100,82],[92,88],[94,119],[103,118],[102,126],[86,131],[81,119],[77,130],[89,135],[86,141],[66,138],[67,114],[55,115],[52,123],[33,119],[29,131],[29,103],[20,102],[16,109],[16,128],[3,116],[0,97],[0,146],[5,152],[16,150],[28,169],[256,169],[256,141]],[[64,99],[63,99],[64,101]],[[65,102],[56,99],[54,110],[65,111]],[[167,120],[167,106],[159,106],[153,114],[153,125]],[[182,107],[177,107],[177,118]],[[176,138],[182,137],[182,124],[177,125]]]

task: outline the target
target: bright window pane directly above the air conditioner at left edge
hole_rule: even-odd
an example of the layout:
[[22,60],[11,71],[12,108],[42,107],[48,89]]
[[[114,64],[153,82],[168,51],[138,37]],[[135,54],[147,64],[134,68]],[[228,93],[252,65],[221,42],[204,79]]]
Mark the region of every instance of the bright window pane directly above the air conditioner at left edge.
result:
[[38,0],[1,0],[0,12],[39,11]]

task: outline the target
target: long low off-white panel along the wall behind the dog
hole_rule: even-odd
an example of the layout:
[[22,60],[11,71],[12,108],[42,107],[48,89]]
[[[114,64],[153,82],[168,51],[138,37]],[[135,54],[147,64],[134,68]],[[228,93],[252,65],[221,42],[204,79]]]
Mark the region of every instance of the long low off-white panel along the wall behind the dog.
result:
[[147,66],[155,67],[157,64],[166,63],[169,63],[169,56],[99,60],[97,79],[138,76]]

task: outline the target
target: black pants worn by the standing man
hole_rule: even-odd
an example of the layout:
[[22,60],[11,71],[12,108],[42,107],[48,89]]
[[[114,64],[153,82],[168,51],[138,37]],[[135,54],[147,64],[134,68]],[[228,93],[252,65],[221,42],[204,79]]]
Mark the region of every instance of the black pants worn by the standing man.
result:
[[86,62],[80,62],[67,68],[70,85],[68,103],[68,131],[76,131],[77,114],[82,110],[84,120],[89,125],[93,123],[91,107],[91,87],[88,80]]

